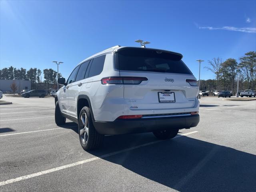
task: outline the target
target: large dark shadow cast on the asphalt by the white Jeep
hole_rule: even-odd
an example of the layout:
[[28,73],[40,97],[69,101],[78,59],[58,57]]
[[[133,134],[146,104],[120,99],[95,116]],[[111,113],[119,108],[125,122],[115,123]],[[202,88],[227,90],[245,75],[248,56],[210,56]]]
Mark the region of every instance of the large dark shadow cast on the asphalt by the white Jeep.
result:
[[[152,134],[105,137],[101,156],[156,140]],[[256,156],[182,136],[104,160],[181,192],[255,191]]]

